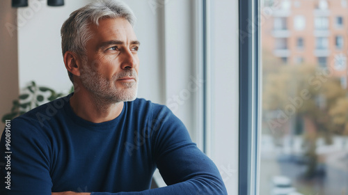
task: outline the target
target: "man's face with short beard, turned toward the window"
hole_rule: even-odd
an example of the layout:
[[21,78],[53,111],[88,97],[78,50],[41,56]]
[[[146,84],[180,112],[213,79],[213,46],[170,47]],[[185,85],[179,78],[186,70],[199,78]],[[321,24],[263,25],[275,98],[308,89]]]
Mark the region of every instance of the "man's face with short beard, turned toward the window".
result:
[[132,101],[138,88],[139,41],[123,18],[91,24],[92,38],[81,66],[81,83],[97,98],[110,103]]

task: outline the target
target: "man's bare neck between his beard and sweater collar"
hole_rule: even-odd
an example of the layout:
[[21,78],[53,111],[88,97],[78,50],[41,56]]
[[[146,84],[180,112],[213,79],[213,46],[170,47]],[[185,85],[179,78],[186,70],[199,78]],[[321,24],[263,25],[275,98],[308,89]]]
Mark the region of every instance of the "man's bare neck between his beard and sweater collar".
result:
[[107,102],[84,91],[74,93],[70,106],[77,116],[93,123],[102,123],[118,117],[123,109],[123,102]]

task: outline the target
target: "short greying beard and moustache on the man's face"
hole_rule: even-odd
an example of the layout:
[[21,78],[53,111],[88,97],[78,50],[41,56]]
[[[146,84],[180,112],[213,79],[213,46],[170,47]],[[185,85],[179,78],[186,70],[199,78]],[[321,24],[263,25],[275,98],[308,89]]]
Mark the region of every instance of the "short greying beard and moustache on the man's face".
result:
[[[134,77],[135,82],[121,83],[125,88],[116,88],[116,80],[122,77]],[[81,68],[81,83],[92,93],[96,101],[101,104],[116,104],[136,99],[138,92],[138,75],[134,69],[126,69],[111,80],[106,79],[100,72],[93,70],[87,63]]]

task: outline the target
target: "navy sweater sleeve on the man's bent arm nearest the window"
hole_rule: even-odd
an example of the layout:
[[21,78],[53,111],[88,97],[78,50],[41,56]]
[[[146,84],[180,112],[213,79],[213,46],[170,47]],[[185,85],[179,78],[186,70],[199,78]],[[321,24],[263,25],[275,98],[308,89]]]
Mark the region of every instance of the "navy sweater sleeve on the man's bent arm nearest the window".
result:
[[[153,121],[153,156],[168,186],[143,192],[119,192],[117,195],[227,194],[214,162],[196,147],[184,124],[168,108],[162,108]],[[116,195],[97,192],[91,195],[106,194]]]

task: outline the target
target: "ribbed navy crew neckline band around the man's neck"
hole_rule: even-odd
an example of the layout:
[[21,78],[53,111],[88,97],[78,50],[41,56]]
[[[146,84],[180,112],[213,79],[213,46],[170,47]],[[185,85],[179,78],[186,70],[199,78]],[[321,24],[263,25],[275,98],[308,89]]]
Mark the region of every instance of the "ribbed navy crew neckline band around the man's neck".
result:
[[127,110],[127,102],[123,102],[123,107],[120,115],[118,115],[116,118],[113,118],[112,120],[105,121],[102,123],[93,123],[88,120],[85,120],[84,118],[81,118],[77,116],[77,114],[74,113],[72,110],[72,107],[70,105],[70,98],[72,97],[73,93],[68,95],[68,103],[64,106],[64,111],[67,114],[68,118],[72,120],[73,123],[80,125],[82,127],[86,127],[88,130],[97,130],[97,131],[104,131],[105,129],[108,129],[110,127],[115,127],[120,120],[124,117],[125,112]]

